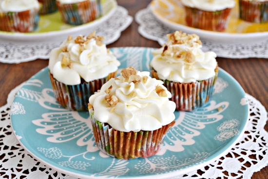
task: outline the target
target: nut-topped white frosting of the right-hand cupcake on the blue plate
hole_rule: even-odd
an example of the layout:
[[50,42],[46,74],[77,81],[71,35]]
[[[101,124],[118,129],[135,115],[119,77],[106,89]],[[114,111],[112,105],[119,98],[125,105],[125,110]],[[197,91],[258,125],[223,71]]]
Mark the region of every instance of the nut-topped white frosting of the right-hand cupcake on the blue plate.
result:
[[188,83],[215,76],[216,54],[204,53],[197,35],[176,31],[168,38],[167,44],[152,52],[151,66],[161,80]]

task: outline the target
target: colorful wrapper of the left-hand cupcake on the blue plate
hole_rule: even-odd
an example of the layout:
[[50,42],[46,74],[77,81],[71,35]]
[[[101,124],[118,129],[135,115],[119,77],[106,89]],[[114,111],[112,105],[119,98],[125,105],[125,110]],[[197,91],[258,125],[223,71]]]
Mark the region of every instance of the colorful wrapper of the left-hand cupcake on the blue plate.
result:
[[74,111],[87,111],[89,97],[108,80],[115,78],[115,75],[116,72],[110,73],[108,77],[103,79],[89,82],[82,81],[77,85],[65,85],[49,73],[55,98],[63,107]]

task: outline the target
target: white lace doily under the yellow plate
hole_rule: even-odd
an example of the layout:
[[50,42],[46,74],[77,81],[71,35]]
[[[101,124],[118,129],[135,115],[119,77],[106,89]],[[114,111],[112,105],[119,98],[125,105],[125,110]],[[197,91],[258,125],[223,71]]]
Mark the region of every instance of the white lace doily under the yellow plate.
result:
[[[167,34],[173,33],[172,29],[153,16],[149,8],[138,11],[135,15],[135,21],[140,24],[138,32],[143,37],[158,41],[160,45],[167,41]],[[224,58],[267,58],[268,40],[252,44],[220,44],[202,40],[202,50],[205,52],[214,51],[218,57]]]

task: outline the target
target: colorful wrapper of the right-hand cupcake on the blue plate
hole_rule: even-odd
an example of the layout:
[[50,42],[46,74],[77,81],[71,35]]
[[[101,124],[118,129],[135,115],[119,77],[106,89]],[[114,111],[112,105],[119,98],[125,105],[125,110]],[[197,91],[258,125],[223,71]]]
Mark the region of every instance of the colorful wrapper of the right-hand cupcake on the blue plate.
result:
[[[212,98],[214,84],[218,76],[218,68],[215,69],[216,75],[208,80],[196,81],[191,83],[172,82],[163,80],[164,86],[171,92],[172,100],[176,103],[176,110],[192,111],[205,106]],[[152,70],[152,77],[159,79],[157,72]]]

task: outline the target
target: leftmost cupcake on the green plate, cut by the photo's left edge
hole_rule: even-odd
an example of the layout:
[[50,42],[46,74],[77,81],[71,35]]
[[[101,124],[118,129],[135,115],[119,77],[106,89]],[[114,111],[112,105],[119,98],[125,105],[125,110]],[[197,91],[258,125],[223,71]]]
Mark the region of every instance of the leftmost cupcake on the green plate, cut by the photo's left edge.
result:
[[32,32],[38,26],[37,0],[0,0],[0,30]]

